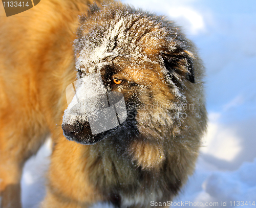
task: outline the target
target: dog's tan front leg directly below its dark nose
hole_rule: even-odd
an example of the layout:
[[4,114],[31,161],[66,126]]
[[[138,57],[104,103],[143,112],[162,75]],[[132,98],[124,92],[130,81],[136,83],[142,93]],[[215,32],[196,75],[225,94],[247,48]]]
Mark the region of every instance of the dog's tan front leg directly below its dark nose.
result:
[[[62,134],[62,129],[58,132],[57,135]],[[95,181],[89,179],[89,146],[68,141],[63,135],[53,141],[56,143],[51,156],[47,194],[41,207],[86,208],[102,201],[95,189]]]

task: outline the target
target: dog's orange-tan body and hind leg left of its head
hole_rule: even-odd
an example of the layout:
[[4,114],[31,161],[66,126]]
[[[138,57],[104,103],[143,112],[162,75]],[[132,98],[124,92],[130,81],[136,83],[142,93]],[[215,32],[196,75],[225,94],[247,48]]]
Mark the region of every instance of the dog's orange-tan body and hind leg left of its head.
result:
[[3,208],[18,208],[26,159],[50,132],[62,134],[56,125],[66,102],[60,97],[76,77],[72,42],[77,16],[88,5],[45,0],[10,17],[0,8],[0,192]]

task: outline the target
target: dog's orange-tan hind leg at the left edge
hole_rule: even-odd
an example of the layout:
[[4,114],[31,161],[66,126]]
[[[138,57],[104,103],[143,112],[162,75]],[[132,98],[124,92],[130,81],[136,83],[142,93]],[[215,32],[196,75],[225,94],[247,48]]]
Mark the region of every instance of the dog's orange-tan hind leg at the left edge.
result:
[[1,208],[21,207],[19,181],[23,166],[25,161],[37,152],[47,135],[42,122],[37,120],[38,114],[36,117],[34,112],[31,114],[25,115],[18,107],[16,110],[6,109],[0,114]]

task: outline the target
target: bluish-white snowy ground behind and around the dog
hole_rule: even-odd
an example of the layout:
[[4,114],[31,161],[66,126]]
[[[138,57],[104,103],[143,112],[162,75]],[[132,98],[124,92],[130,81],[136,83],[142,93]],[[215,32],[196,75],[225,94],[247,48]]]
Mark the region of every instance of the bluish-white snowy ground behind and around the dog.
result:
[[[196,202],[199,207],[206,202],[219,202],[220,207],[225,201],[226,207],[234,206],[230,201],[252,203],[256,200],[256,1],[122,2],[175,20],[196,43],[205,63],[208,133],[195,174],[175,202]],[[44,195],[49,147],[47,141],[25,166],[25,208],[37,207]]]

